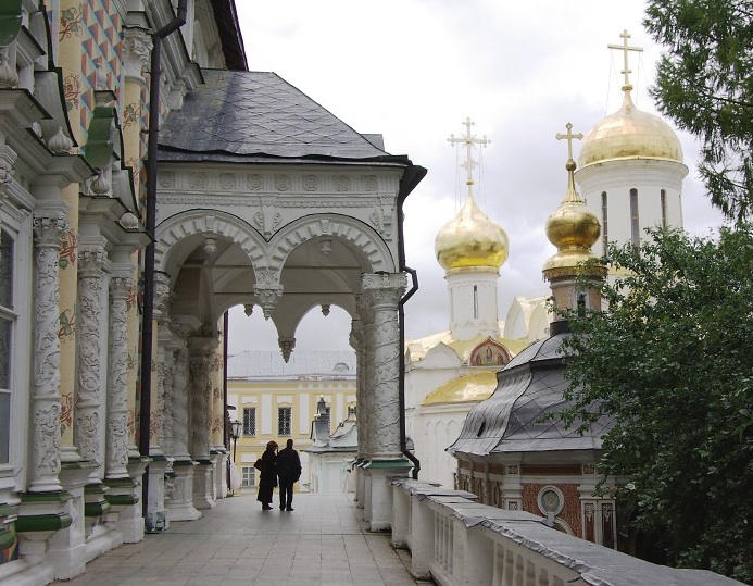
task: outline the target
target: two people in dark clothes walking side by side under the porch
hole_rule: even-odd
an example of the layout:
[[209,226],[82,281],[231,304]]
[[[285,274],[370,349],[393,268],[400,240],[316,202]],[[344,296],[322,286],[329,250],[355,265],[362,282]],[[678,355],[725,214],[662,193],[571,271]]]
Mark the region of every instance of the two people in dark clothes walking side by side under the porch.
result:
[[301,459],[293,449],[293,440],[288,439],[284,449],[277,453],[277,442],[269,441],[266,450],[256,461],[254,467],[261,472],[256,500],[262,510],[272,509],[272,494],[279,479],[279,509],[292,511],[293,484],[301,477]]

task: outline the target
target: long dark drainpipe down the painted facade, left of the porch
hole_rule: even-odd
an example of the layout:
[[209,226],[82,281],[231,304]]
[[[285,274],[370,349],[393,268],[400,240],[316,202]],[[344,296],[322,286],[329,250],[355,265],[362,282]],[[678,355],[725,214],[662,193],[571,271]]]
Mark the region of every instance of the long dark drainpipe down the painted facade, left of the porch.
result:
[[[179,0],[177,14],[152,34],[151,76],[149,82],[149,130],[147,141],[146,230],[149,245],[143,252],[143,313],[141,315],[141,394],[139,403],[139,453],[149,458],[149,427],[152,399],[152,346],[154,319],[154,232],[156,222],[156,149],[160,132],[160,75],[162,39],[186,24],[188,0]],[[141,510],[147,516],[149,474],[143,475]]]

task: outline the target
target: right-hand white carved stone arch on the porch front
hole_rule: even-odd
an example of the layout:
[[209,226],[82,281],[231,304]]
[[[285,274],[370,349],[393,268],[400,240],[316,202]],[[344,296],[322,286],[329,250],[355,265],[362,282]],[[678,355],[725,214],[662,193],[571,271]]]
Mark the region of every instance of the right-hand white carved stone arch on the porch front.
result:
[[360,220],[346,215],[325,213],[301,217],[283,226],[272,237],[269,250],[271,267],[280,274],[288,254],[302,244],[321,237],[338,238],[356,250],[368,263],[365,272],[376,273],[398,271],[396,259],[392,257],[387,242],[368,225]]

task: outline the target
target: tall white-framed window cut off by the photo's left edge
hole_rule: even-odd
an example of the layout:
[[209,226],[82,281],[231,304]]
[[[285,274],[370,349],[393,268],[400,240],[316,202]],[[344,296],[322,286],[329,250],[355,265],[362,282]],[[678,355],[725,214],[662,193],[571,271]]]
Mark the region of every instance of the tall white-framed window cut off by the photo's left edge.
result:
[[13,238],[0,232],[0,464],[10,463],[13,350]]

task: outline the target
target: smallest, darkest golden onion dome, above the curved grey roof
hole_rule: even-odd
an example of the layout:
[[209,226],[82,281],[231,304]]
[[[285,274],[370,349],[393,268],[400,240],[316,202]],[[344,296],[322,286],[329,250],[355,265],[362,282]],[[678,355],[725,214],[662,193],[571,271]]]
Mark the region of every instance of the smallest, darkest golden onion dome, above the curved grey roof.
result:
[[557,252],[544,263],[544,275],[552,271],[575,269],[580,262],[592,258],[591,245],[601,233],[597,214],[586,207],[575,190],[575,161],[568,160],[565,169],[568,175],[567,194],[547,220],[547,238],[557,247]]

